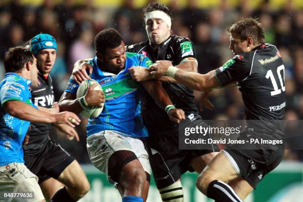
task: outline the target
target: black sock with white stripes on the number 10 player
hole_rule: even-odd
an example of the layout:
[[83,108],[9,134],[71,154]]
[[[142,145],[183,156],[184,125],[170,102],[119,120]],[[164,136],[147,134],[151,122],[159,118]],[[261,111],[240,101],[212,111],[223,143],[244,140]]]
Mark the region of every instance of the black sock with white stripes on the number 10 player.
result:
[[218,180],[209,183],[207,197],[216,202],[243,202],[228,184]]

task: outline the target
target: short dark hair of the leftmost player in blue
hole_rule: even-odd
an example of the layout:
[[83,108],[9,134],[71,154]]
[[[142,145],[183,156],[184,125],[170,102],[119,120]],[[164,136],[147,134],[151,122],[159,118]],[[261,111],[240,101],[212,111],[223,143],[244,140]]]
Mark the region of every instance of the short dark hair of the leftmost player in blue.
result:
[[28,61],[34,62],[34,55],[30,50],[13,47],[5,52],[3,63],[6,72],[20,72]]

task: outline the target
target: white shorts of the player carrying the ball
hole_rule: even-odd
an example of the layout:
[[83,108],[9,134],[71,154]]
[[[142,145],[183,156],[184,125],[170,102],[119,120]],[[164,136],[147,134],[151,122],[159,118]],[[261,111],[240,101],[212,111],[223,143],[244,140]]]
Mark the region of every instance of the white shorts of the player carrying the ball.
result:
[[104,130],[87,138],[87,151],[91,162],[106,174],[110,183],[114,182],[108,176],[108,159],[114,152],[121,150],[134,152],[145,172],[151,174],[149,154],[140,139],[124,136],[112,130]]

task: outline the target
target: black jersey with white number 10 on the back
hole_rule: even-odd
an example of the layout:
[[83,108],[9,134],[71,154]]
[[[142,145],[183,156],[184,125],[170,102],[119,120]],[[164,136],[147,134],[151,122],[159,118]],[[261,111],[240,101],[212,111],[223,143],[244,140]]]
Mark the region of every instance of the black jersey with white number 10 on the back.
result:
[[221,86],[237,81],[247,120],[283,120],[285,67],[279,50],[271,44],[242,52],[216,69]]

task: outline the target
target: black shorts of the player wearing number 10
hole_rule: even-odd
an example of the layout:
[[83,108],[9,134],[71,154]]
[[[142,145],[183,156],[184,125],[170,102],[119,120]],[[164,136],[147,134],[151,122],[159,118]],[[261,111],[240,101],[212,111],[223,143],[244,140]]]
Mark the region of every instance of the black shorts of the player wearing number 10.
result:
[[[244,136],[247,136],[249,133],[250,132],[248,131],[243,132],[240,135],[242,136],[241,139],[246,139]],[[247,137],[251,138],[252,136]],[[229,157],[226,152],[228,152],[235,160],[237,165],[234,165],[233,160],[229,159],[234,167],[239,167],[240,172],[238,174],[241,175],[254,189],[267,173],[280,164],[284,155],[284,149],[282,148],[271,150],[263,147],[261,144],[258,148],[258,150],[234,150],[232,147],[226,147],[223,151],[227,158]]]

